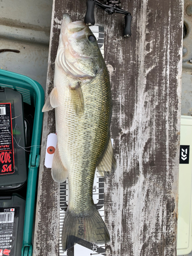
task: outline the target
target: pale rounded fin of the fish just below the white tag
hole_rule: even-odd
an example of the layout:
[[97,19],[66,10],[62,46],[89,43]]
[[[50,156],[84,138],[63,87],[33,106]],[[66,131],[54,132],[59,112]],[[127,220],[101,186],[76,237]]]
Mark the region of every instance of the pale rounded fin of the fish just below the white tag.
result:
[[61,162],[59,156],[58,145],[56,145],[55,153],[53,156],[53,163],[51,167],[51,175],[54,181],[62,183],[67,179],[67,169]]

